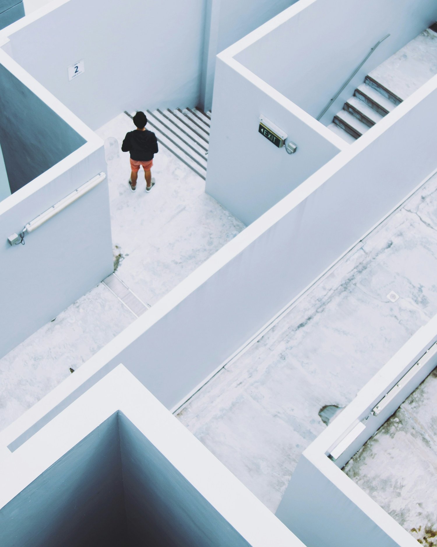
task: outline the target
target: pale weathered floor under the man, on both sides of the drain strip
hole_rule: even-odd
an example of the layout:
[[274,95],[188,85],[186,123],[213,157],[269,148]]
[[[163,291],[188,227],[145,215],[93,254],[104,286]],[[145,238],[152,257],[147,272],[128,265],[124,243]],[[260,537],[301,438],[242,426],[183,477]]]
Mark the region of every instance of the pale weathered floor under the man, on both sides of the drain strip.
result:
[[[102,127],[121,140],[133,129],[126,114]],[[145,193],[142,171],[135,194],[128,187],[129,156],[108,165],[111,228],[117,275],[153,305],[238,234],[244,225],[204,192],[205,183],[161,148]],[[142,177],[142,178],[141,178]],[[0,359],[0,430],[58,385],[135,316],[99,284]]]

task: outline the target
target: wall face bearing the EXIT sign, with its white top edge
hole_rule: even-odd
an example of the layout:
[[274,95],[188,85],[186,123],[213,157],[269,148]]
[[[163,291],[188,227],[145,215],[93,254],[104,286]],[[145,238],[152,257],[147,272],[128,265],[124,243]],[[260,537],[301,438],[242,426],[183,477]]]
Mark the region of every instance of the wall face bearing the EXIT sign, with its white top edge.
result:
[[[217,57],[213,110],[205,191],[246,225],[345,146],[225,54]],[[258,132],[260,115],[288,134],[296,153],[287,154]]]

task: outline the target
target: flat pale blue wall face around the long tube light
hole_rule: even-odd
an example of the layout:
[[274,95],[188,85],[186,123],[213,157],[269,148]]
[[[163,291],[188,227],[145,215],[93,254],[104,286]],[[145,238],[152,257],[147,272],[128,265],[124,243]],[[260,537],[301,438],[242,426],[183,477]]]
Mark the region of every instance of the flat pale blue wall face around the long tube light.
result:
[[5,210],[0,202],[0,357],[113,272],[107,180],[27,234],[26,245],[7,241],[106,167],[102,144],[22,201],[11,196]]

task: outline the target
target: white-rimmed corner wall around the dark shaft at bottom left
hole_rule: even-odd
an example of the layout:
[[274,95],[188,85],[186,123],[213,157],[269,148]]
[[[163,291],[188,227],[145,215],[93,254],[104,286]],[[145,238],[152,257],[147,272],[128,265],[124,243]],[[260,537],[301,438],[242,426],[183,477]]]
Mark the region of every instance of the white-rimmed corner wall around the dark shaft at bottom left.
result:
[[4,547],[304,547],[122,365],[0,456]]

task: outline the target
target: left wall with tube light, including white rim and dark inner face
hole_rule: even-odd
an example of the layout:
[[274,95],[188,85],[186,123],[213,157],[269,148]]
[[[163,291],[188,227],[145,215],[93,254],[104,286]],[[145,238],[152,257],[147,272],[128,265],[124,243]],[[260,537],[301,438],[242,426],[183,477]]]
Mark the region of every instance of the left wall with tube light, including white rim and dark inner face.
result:
[[113,271],[108,182],[38,230],[8,237],[98,175],[103,142],[0,50],[0,144],[12,195],[0,202],[0,356]]

